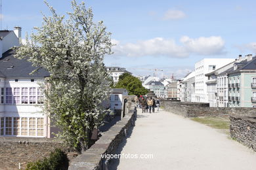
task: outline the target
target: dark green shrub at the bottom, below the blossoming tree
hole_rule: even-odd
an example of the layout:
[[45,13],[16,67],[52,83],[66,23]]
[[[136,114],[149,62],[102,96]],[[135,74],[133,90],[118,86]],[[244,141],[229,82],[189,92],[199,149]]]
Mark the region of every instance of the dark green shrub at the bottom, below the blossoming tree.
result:
[[58,170],[58,169],[68,169],[68,157],[67,155],[56,148],[51,152],[49,158],[44,158],[43,160],[38,160],[35,162],[30,162],[27,165],[27,170]]

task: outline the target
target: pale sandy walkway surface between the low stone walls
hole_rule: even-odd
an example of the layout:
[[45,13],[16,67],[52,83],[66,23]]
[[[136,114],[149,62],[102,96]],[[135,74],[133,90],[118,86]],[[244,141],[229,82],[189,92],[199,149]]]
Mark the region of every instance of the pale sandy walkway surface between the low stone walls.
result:
[[116,153],[154,158],[121,158],[112,161],[110,169],[256,169],[256,153],[246,146],[217,129],[163,110],[142,114],[139,109],[136,126]]

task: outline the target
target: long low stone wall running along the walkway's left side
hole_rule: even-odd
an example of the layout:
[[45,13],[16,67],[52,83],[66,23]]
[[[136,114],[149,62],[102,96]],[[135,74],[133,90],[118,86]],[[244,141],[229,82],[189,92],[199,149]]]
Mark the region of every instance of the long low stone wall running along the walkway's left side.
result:
[[131,101],[128,101],[128,106],[127,114],[122,120],[104,132],[91,148],[72,160],[68,167],[69,170],[105,168],[106,160],[102,158],[101,154],[112,154],[125,137],[126,131],[135,124],[137,110],[134,109],[135,105]]

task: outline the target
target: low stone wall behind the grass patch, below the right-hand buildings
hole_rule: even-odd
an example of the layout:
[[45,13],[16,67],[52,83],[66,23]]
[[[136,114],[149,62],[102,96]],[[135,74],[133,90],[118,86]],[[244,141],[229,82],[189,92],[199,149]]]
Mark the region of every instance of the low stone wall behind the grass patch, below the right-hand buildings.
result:
[[256,117],[256,108],[249,107],[209,107],[209,103],[191,103],[167,100],[161,101],[161,105],[165,110],[182,115],[184,117],[223,115],[241,115]]

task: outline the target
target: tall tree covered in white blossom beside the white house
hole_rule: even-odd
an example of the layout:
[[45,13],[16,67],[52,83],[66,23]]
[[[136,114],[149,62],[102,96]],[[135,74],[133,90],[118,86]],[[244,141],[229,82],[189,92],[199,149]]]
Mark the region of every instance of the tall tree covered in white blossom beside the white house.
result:
[[68,18],[45,3],[52,16],[43,16],[43,24],[16,49],[16,57],[51,73],[44,85],[44,109],[62,130],[57,136],[81,151],[106,112],[101,103],[108,98],[110,83],[103,58],[112,54],[110,33],[102,22],[93,22],[84,3],[72,1]]

